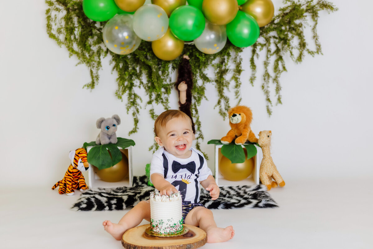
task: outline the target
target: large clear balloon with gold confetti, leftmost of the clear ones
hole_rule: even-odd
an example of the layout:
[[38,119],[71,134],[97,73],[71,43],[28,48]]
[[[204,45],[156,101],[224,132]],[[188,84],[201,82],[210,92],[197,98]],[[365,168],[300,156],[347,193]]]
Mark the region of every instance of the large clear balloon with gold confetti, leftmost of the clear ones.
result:
[[102,30],[105,46],[118,55],[134,52],[141,43],[132,27],[132,15],[120,14],[110,19]]

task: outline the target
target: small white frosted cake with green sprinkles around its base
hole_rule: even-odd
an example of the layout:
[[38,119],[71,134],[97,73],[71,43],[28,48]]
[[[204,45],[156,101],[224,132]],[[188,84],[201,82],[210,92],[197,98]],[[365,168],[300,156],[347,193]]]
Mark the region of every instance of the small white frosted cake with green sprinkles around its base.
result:
[[150,233],[171,237],[184,234],[182,199],[180,192],[162,195],[150,193]]

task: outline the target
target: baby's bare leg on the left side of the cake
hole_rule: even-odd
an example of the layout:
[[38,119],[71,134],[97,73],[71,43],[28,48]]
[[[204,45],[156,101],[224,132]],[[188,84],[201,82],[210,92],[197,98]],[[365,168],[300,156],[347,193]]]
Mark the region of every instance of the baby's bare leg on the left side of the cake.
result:
[[118,224],[106,220],[102,222],[102,225],[104,226],[105,231],[110,233],[116,240],[121,240],[125,231],[136,227],[143,219],[150,221],[149,200],[139,202],[120,219]]

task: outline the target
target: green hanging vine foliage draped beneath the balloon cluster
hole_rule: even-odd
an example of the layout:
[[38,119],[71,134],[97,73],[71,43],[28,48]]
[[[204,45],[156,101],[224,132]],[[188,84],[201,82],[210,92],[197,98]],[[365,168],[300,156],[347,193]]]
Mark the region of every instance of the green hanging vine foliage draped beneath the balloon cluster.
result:
[[[64,46],[69,51],[69,56],[76,56],[79,64],[86,65],[90,70],[91,81],[84,85],[85,88],[93,89],[99,81],[99,70],[101,59],[110,56],[112,71],[118,75],[116,96],[125,100],[127,113],[131,112],[134,119],[134,127],[129,135],[137,132],[137,124],[141,109],[142,98],[136,89],[143,88],[148,96],[146,105],[149,105],[151,118],[156,119],[155,105],[162,105],[169,109],[169,95],[174,82],[171,74],[178,69],[182,56],[175,60],[165,61],[154,55],[151,42],[141,41],[137,50],[129,55],[118,55],[110,52],[103,43],[102,30],[106,22],[95,22],[89,19],[82,8],[81,0],[47,0],[46,10],[47,33],[50,38],[56,40],[59,46]],[[250,58],[251,78],[250,83],[254,85],[256,80],[257,63],[259,52],[266,51],[264,58],[264,75],[262,89],[266,96],[267,112],[271,115],[272,100],[270,98],[270,82],[275,84],[277,103],[281,103],[280,75],[286,71],[285,56],[290,56],[296,63],[302,62],[306,53],[314,56],[321,53],[321,45],[317,35],[317,24],[319,12],[326,10],[328,13],[337,10],[328,1],[294,1],[284,0],[284,7],[280,8],[278,15],[266,26],[260,28],[260,37],[253,46]],[[310,27],[308,21],[313,22],[311,28],[315,50],[308,47],[305,41],[304,31]],[[295,42],[297,40],[297,43]],[[235,91],[238,104],[241,101],[241,72],[242,48],[234,46],[227,41],[225,47],[218,53],[207,55],[198,50],[194,45],[185,44],[182,55],[188,55],[194,86],[192,89],[192,116],[196,125],[196,147],[199,149],[200,141],[203,140],[201,122],[198,116],[198,106],[206,97],[206,84],[214,84],[217,91],[216,108],[224,118],[230,107],[226,92],[229,91],[231,83]],[[273,60],[273,73],[270,73],[270,62]],[[230,67],[229,65],[233,65]],[[207,76],[207,69],[213,67],[214,78]],[[198,80],[197,80],[198,79]],[[150,150],[156,149],[156,144]]]

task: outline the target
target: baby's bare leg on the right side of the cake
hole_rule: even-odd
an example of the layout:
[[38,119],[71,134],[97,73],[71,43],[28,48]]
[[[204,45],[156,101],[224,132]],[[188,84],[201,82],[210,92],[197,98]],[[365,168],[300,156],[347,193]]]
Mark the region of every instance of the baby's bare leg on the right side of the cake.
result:
[[234,236],[232,226],[217,227],[212,212],[202,206],[193,208],[185,217],[185,224],[200,227],[207,234],[207,243],[225,242]]

